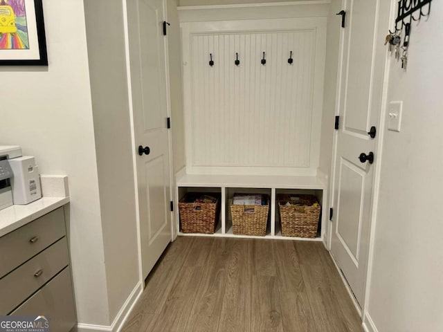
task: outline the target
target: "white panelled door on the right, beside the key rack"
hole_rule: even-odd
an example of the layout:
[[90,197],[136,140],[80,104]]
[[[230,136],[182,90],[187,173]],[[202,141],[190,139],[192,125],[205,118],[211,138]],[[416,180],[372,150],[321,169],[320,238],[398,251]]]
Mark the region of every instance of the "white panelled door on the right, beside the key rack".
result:
[[[379,1],[343,1],[346,27],[341,39],[341,73],[334,174],[334,218],[332,255],[350,284],[356,300],[363,305],[374,164],[359,160],[361,153],[373,152],[376,138],[368,131],[379,123],[379,57],[375,26]],[[381,41],[383,46],[383,41]],[[380,53],[384,54],[384,53]],[[379,68],[377,68],[379,71]],[[377,82],[376,82],[377,81]]]

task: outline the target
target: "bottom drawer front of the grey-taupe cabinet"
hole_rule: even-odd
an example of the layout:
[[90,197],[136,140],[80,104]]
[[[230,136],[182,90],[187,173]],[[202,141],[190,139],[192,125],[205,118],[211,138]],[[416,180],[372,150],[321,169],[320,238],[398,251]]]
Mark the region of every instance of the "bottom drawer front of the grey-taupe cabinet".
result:
[[44,315],[51,331],[68,332],[75,325],[71,270],[65,268],[11,315]]

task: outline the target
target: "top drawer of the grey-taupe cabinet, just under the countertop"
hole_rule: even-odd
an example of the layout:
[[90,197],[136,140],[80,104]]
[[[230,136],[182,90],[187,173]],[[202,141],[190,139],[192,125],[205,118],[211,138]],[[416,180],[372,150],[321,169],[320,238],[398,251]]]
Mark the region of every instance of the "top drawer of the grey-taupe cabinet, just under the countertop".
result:
[[66,235],[63,208],[0,237],[0,277]]

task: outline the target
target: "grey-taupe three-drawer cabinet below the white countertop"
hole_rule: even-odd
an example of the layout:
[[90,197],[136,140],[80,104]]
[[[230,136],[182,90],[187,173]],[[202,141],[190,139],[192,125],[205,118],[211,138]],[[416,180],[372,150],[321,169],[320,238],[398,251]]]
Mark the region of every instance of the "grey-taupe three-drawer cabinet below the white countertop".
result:
[[0,315],[44,315],[70,331],[75,308],[64,208],[0,237]]

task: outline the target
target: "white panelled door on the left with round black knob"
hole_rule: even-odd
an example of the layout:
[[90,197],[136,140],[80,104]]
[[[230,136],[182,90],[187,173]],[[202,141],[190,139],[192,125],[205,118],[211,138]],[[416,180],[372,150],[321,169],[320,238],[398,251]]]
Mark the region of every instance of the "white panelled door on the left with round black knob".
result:
[[127,1],[143,277],[172,239],[164,6],[162,0]]

